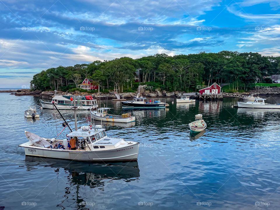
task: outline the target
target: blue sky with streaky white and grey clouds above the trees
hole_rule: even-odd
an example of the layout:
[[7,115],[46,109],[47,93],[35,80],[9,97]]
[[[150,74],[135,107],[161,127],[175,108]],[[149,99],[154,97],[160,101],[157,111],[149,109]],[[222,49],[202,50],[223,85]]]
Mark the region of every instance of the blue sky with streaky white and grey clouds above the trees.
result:
[[0,88],[48,68],[222,50],[280,56],[280,0],[0,0]]

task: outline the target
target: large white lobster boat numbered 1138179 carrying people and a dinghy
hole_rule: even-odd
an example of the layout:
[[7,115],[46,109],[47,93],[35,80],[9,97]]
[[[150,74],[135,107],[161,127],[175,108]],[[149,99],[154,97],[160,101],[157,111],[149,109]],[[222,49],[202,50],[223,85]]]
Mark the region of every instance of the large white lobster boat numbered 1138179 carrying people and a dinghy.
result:
[[[56,108],[55,104],[54,106]],[[74,145],[76,143],[76,147],[73,147],[71,150],[62,148],[58,149],[53,145],[62,143],[66,148],[68,145],[67,139],[57,139],[57,137],[43,138],[34,133],[25,131],[25,135],[29,141],[19,145],[24,148],[25,155],[80,161],[137,160],[139,142],[108,137],[105,129],[102,129],[101,125],[82,126],[78,129],[75,99],[73,109],[75,116],[75,131],[72,131],[58,108],[57,111],[65,121],[65,123],[63,123],[64,126],[69,127],[71,131],[67,134],[67,137],[71,138],[70,142],[73,139]]]

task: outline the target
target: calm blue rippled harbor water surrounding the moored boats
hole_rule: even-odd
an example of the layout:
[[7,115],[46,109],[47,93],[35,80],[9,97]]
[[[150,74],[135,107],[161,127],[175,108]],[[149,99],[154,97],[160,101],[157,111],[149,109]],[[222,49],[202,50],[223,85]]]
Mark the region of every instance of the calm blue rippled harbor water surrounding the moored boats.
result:
[[[122,110],[120,102],[109,100],[113,113],[129,112],[136,122],[106,124],[107,135],[139,141],[141,147],[137,162],[100,164],[25,157],[17,147],[27,141],[24,130],[55,137],[62,119],[55,110],[40,110],[38,97],[0,96],[5,210],[279,209],[280,110],[232,108],[234,98],[178,105],[167,99],[169,108],[157,110]],[[36,105],[39,120],[24,118],[28,105]],[[73,113],[62,113],[74,127]],[[190,136],[188,123],[198,113],[206,132]],[[80,126],[89,118],[87,111],[78,112]]]

